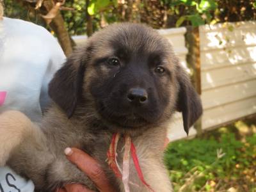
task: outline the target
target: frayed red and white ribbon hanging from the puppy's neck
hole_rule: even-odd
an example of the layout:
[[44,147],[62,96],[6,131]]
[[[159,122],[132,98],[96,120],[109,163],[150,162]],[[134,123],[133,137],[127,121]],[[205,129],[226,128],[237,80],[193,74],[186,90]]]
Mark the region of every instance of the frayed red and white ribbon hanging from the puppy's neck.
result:
[[130,191],[130,189],[129,189],[129,184],[131,183],[131,182],[129,182],[130,153],[131,153],[131,156],[132,156],[132,161],[133,161],[134,166],[136,168],[136,172],[138,173],[138,177],[140,178],[141,182],[148,188],[149,191],[154,192],[154,190],[145,181],[145,179],[143,177],[143,173],[141,171],[138,156],[136,154],[136,148],[135,148],[134,144],[131,141],[131,137],[128,136],[128,135],[124,136],[125,145],[124,145],[123,170],[121,170],[121,168],[118,165],[117,160],[116,160],[116,157],[117,157],[116,148],[117,148],[117,144],[118,144],[119,139],[120,139],[120,134],[119,133],[113,134],[111,143],[109,145],[109,150],[107,152],[107,156],[108,156],[107,161],[108,161],[109,167],[113,170],[116,177],[122,178],[125,192]]

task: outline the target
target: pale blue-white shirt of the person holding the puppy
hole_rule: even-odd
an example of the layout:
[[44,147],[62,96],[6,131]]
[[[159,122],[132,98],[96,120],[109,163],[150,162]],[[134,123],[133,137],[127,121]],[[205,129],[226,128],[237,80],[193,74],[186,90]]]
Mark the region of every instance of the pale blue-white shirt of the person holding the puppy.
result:
[[[15,109],[39,121],[49,103],[47,84],[64,60],[60,45],[45,28],[19,19],[0,20],[0,113]],[[33,182],[0,168],[0,192],[17,191],[33,192]]]

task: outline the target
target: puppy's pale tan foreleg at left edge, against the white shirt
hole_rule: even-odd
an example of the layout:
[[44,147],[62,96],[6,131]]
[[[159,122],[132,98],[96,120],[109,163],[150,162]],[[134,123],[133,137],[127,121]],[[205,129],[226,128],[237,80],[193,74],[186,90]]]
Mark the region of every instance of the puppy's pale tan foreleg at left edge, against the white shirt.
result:
[[31,132],[33,123],[19,111],[0,114],[0,166],[4,166],[13,149]]

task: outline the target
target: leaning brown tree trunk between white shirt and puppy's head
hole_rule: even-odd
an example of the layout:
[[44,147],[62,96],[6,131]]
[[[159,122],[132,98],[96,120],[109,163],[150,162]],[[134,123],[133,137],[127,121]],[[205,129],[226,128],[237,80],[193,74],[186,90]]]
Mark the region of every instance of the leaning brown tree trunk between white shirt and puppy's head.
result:
[[[44,1],[43,7],[47,12],[51,10],[52,6],[52,1]],[[60,12],[57,13],[56,17],[52,19],[52,22],[49,25],[56,34],[65,55],[70,55],[72,52],[72,41],[65,28],[65,22]]]

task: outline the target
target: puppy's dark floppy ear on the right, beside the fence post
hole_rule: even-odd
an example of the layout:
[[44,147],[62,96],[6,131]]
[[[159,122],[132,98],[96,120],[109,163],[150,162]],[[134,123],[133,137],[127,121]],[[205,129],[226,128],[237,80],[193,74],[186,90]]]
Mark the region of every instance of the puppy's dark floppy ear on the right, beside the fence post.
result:
[[184,130],[188,134],[196,120],[202,115],[201,99],[191,84],[188,74],[182,67],[178,67],[177,78],[179,82],[179,94],[177,111],[182,112]]

